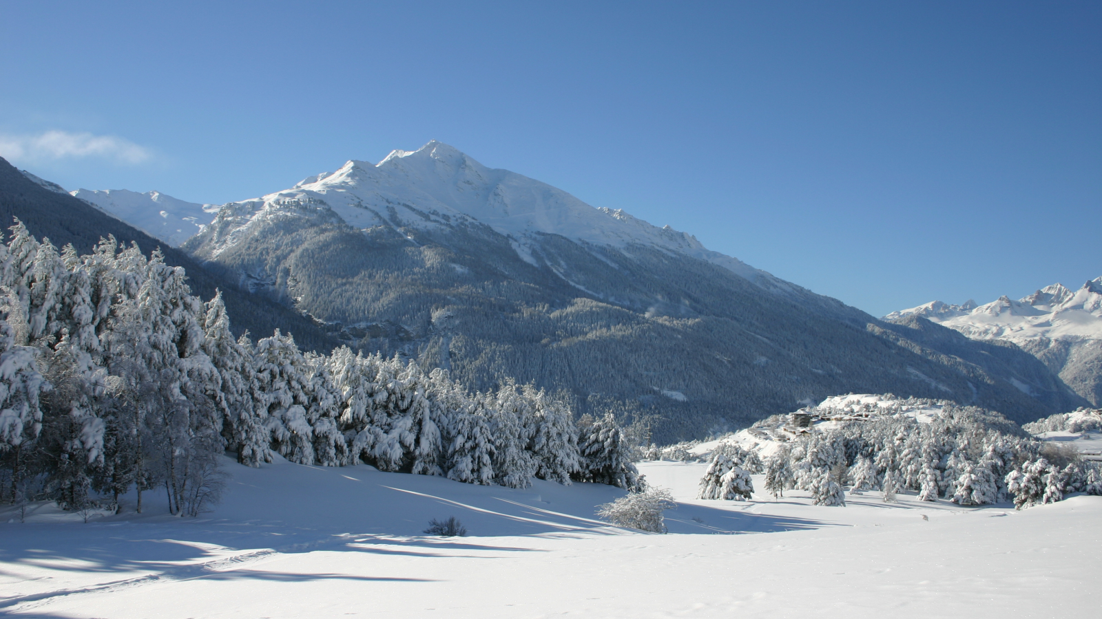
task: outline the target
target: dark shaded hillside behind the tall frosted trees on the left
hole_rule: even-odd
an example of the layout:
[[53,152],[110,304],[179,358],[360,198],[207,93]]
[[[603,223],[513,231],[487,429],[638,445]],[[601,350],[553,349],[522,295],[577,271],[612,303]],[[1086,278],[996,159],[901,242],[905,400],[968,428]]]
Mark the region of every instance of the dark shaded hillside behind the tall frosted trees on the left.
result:
[[[41,181],[41,180],[40,180]],[[57,187],[61,189],[61,187]],[[0,227],[7,228],[18,217],[32,235],[48,237],[57,248],[72,243],[78,252],[88,253],[101,237],[114,235],[120,242],[137,242],[144,251],[160,248],[165,262],[187,271],[192,291],[212,298],[223,291],[226,307],[234,318],[237,334],[249,330],[256,337],[271,335],[276,328],[292,332],[296,341],[310,349],[328,351],[334,339],[300,313],[268,298],[249,295],[219,275],[203,269],[179,249],[169,247],[120,219],[98,210],[64,191],[47,188],[34,182],[3,159],[0,159]]]

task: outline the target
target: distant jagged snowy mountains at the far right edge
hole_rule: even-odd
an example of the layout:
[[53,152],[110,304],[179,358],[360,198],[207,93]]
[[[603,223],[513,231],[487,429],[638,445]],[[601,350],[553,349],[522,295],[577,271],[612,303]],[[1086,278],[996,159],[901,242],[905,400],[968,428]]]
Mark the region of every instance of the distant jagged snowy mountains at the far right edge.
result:
[[893,312],[885,319],[914,316],[973,339],[1013,343],[1045,362],[1092,405],[1102,405],[1102,278],[1078,290],[1056,283],[1017,301],[1007,296],[984,305],[933,301]]

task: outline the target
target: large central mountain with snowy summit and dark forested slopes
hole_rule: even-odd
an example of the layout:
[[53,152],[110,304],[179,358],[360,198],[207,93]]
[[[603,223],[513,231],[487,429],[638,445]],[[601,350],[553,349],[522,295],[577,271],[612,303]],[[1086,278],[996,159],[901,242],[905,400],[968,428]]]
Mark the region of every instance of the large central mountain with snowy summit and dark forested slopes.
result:
[[[75,194],[147,230],[169,211],[164,196],[128,214],[111,193]],[[1020,422],[1087,403],[1013,343],[874,318],[435,141],[195,217],[191,258],[339,341],[473,389],[531,381],[659,443],[846,392],[953,399]]]

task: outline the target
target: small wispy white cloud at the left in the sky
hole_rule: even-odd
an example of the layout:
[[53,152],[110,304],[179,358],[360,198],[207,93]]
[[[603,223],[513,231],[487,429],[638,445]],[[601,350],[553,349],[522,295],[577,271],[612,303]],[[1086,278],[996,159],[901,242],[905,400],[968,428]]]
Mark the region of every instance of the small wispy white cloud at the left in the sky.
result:
[[21,162],[98,158],[116,163],[142,163],[152,153],[116,135],[46,131],[37,135],[0,134],[0,156]]

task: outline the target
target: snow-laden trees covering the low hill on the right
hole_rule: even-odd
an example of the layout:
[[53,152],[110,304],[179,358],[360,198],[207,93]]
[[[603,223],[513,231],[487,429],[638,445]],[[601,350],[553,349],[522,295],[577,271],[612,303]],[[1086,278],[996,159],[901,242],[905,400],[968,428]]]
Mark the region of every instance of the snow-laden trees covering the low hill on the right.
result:
[[[940,413],[929,423],[899,414],[920,404],[937,404]],[[1078,417],[1089,413],[1080,411]],[[1066,423],[1069,416],[1077,414],[1054,415],[1038,426]],[[723,444],[701,479],[700,498],[748,499],[747,473],[765,474],[765,490],[774,496],[807,490],[824,506],[844,506],[845,487],[882,490],[887,501],[911,490],[922,501],[981,506],[1013,500],[1018,509],[1056,502],[1069,492],[1102,495],[1102,467],[1074,449],[1037,441],[995,412],[919,399],[901,400],[867,421],[841,422],[836,430],[781,443],[764,459]]]

